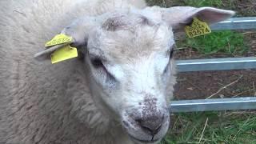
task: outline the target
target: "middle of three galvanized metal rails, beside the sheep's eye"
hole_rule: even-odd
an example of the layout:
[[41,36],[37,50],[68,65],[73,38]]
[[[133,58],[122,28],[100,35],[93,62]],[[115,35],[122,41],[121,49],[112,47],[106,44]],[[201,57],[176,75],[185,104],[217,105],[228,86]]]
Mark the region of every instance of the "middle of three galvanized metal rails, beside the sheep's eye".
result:
[[178,60],[176,63],[179,72],[256,69],[256,57]]

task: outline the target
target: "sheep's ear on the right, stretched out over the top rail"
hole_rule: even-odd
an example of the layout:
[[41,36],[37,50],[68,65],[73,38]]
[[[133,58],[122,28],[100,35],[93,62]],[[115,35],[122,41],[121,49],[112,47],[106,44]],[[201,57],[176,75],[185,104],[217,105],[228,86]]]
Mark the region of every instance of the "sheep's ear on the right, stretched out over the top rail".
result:
[[232,10],[221,10],[212,7],[195,8],[190,6],[175,6],[161,9],[162,20],[167,22],[174,31],[183,30],[184,26],[190,25],[194,17],[200,19],[202,22],[213,24],[222,22],[235,14]]

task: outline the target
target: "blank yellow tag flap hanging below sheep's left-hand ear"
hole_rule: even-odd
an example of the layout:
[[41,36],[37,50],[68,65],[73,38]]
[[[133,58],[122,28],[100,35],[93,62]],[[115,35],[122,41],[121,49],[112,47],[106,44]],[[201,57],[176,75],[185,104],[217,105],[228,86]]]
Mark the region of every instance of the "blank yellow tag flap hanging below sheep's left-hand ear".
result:
[[55,50],[54,53],[50,54],[51,63],[53,64],[75,57],[78,57],[78,50],[70,45]]

